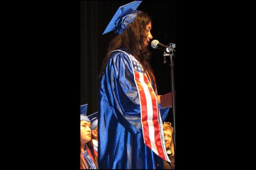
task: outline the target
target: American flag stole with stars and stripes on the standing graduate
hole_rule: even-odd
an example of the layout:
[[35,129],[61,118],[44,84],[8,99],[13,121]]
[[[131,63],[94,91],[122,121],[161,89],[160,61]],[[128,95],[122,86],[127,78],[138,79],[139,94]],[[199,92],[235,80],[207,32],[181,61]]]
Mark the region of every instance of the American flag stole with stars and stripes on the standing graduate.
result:
[[[122,50],[119,51],[124,52]],[[165,149],[163,123],[160,112],[158,112],[155,92],[142,65],[134,56],[126,54],[129,56],[133,67],[134,81],[139,94],[144,143],[160,158],[170,162]]]

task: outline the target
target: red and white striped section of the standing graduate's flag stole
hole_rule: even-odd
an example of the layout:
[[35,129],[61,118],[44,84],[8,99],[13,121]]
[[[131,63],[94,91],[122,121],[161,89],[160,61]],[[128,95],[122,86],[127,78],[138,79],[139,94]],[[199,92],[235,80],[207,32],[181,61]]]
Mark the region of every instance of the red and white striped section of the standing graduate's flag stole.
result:
[[160,158],[167,160],[161,141],[158,121],[158,106],[153,91],[145,73],[134,71],[141,103],[141,124],[144,143]]

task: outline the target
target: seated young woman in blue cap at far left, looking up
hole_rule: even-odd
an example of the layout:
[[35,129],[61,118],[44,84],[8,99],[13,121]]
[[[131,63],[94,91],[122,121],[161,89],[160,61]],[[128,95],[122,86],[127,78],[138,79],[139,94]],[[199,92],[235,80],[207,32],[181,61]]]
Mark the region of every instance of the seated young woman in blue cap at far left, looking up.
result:
[[80,111],[80,169],[98,169],[98,153],[94,151],[91,139],[91,122],[86,116],[87,104]]

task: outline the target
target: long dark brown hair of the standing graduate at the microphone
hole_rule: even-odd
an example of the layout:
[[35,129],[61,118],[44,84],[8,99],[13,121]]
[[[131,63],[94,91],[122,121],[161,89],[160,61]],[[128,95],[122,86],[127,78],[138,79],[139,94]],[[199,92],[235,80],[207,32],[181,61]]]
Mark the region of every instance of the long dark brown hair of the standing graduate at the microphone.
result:
[[101,78],[105,72],[110,52],[120,48],[121,46],[125,47],[141,63],[144,69],[153,73],[149,64],[151,53],[144,43],[147,37],[147,32],[145,31],[146,26],[150,22],[151,18],[148,14],[140,13],[133,22],[126,27],[121,35],[117,35],[112,41],[110,41],[99,78]]

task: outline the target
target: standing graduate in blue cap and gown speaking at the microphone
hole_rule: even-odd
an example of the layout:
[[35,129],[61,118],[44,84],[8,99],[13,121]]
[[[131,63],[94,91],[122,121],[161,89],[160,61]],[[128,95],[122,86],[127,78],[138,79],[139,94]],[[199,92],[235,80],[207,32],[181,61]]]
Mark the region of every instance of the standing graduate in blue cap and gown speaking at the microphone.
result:
[[141,1],[118,8],[103,34],[118,35],[109,44],[99,75],[99,169],[163,169],[166,153],[161,108],[150,66],[149,15]]

